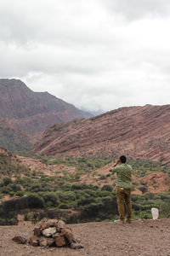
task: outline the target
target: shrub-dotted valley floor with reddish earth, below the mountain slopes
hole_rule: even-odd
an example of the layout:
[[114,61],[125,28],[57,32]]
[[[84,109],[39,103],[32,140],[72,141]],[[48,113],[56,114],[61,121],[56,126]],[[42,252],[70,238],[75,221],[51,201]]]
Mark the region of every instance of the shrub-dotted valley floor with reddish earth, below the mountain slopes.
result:
[[[20,223],[19,214],[22,222],[60,216],[68,223],[117,218],[116,177],[108,172],[113,159],[32,158],[1,149],[0,160],[1,224]],[[161,218],[170,217],[170,167],[133,159],[129,163],[133,218],[151,218],[151,207],[160,209]]]

